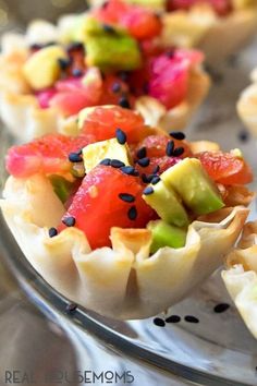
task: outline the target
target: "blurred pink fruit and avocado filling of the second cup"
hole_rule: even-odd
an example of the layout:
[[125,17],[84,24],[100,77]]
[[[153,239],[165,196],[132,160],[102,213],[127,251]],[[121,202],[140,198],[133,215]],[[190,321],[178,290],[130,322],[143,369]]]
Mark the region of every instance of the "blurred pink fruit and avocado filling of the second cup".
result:
[[23,73],[42,109],[70,117],[90,106],[133,108],[143,95],[167,109],[186,99],[204,56],[161,47],[162,22],[154,11],[110,0],[75,17],[60,43],[30,46]]

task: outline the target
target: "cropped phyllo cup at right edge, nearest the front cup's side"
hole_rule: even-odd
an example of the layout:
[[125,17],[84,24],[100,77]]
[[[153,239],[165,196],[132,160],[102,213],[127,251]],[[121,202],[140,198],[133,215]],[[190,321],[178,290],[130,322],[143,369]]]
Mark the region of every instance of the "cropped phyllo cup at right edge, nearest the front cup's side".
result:
[[224,285],[249,331],[257,339],[257,222],[244,227],[236,249],[225,260]]

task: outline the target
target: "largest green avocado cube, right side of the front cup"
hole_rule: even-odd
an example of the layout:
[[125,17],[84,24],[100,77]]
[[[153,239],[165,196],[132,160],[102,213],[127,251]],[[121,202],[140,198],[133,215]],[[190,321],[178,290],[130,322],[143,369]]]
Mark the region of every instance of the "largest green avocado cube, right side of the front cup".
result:
[[218,188],[196,158],[183,159],[166,170],[161,179],[167,186],[174,189],[196,215],[205,215],[224,206]]

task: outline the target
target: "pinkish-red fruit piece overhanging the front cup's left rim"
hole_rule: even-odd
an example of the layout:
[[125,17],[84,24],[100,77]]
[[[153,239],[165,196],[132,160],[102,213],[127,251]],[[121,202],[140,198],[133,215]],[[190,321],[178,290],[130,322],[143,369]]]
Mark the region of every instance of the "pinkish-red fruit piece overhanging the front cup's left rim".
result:
[[63,174],[71,169],[69,154],[93,142],[94,135],[45,135],[28,144],[11,147],[7,156],[7,170],[17,178],[27,178],[35,173]]

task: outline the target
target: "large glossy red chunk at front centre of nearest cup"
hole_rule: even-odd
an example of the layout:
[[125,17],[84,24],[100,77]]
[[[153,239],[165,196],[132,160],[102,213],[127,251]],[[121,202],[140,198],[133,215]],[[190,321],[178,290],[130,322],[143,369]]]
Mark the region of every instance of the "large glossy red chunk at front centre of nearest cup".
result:
[[[75,218],[75,227],[85,232],[91,249],[111,245],[112,227],[144,228],[156,217],[142,198],[139,181],[119,169],[97,166],[84,178],[63,219]],[[133,202],[123,201],[122,193],[130,194]]]

